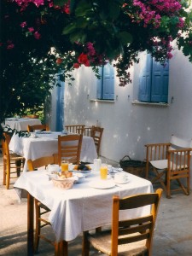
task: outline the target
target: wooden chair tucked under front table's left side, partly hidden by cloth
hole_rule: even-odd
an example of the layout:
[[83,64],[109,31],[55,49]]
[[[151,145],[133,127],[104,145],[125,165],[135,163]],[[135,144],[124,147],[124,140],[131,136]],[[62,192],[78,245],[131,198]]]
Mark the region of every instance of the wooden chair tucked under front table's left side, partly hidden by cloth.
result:
[[[54,155],[44,156],[38,158],[36,160],[27,160],[28,171],[32,172],[35,169],[38,169],[42,166],[48,166],[51,164],[55,164],[56,160]],[[67,241],[55,242],[49,240],[46,236],[41,234],[41,229],[46,227],[47,225],[51,225],[47,218],[44,218],[44,214],[50,212],[50,209],[44,206],[43,203],[35,199],[35,241],[34,241],[34,251],[38,253],[38,246],[40,238],[44,241],[49,242],[50,244],[55,246],[55,255],[61,255],[61,252],[65,252],[67,255]]]

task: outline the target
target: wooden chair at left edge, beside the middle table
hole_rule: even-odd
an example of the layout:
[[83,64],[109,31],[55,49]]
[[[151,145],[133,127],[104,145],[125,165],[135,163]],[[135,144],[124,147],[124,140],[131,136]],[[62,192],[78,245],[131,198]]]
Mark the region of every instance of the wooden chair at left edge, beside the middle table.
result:
[[3,137],[3,185],[6,186],[6,189],[9,189],[10,178],[20,177],[20,172],[23,170],[25,158],[19,154],[9,151],[9,142],[11,137],[8,133],[4,132]]

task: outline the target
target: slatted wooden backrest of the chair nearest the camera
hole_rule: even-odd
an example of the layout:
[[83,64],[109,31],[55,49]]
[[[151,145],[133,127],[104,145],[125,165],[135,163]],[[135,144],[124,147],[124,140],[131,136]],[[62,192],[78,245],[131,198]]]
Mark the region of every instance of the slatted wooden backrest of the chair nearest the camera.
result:
[[[146,247],[148,248],[147,255],[151,255],[154,226],[160,205],[161,194],[162,189],[157,189],[155,193],[131,195],[122,199],[119,199],[118,195],[113,195],[111,255],[118,255],[119,244],[144,240],[146,240]],[[119,211],[144,206],[151,206],[151,211],[148,215],[119,221]]]

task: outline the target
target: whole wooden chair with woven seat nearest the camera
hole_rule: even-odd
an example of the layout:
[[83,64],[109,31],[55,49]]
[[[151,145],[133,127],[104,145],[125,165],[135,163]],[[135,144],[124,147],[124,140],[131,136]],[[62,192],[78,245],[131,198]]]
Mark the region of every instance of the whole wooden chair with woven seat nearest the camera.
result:
[[[90,234],[84,232],[83,255],[88,256],[90,244],[107,255],[152,255],[154,227],[160,205],[162,189],[155,193],[131,195],[119,199],[113,195],[113,215],[111,230]],[[151,206],[149,214],[119,220],[119,211]]]

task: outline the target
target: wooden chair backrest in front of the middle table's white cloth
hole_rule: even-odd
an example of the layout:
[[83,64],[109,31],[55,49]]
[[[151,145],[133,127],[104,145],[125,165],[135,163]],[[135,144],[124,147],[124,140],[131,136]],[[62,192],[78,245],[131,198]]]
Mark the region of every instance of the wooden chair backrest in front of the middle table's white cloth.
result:
[[68,160],[79,165],[82,139],[82,134],[58,136],[58,164],[60,166],[61,160]]

